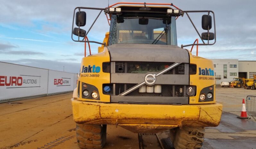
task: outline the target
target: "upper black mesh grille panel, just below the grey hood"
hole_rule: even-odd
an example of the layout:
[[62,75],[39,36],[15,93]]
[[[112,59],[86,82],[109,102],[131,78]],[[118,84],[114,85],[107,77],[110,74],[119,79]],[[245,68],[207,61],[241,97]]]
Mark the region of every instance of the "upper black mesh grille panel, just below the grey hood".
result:
[[[172,64],[174,63],[173,62],[134,62],[134,61],[115,62],[115,73],[146,74],[148,72],[160,72]],[[177,73],[184,74],[184,64],[180,64],[180,65],[182,65],[182,68],[178,69]],[[173,74],[173,70],[169,70],[165,74]]]

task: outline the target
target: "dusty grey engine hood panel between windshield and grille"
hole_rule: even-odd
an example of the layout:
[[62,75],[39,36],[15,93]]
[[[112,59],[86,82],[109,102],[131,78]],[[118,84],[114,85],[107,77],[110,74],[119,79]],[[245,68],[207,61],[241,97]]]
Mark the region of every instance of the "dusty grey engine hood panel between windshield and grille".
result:
[[107,46],[111,61],[156,61],[189,63],[187,50],[174,45],[113,44]]

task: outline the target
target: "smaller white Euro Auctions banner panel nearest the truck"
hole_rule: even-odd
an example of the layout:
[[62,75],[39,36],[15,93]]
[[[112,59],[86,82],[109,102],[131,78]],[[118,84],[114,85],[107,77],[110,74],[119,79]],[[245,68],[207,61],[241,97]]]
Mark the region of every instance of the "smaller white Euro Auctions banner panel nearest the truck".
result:
[[49,70],[48,94],[74,90],[74,74]]

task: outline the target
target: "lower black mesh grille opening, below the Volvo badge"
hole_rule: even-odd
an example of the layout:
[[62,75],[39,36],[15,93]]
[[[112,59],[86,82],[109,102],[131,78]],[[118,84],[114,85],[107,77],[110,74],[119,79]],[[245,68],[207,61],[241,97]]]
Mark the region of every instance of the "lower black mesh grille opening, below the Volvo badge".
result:
[[[115,83],[113,95],[119,95],[137,84]],[[125,96],[158,96],[158,97],[184,97],[184,85],[155,84],[153,86],[143,85]]]

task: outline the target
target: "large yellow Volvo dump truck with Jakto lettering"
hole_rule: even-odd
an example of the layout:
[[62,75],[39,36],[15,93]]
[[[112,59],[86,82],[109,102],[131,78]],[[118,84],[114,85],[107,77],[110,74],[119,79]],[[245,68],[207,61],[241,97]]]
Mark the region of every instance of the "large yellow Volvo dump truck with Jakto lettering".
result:
[[[98,16],[86,32],[82,27],[91,15],[84,9],[107,16],[110,27],[103,43],[88,40]],[[190,13],[204,13],[200,22],[204,33],[199,33]],[[177,46],[176,21],[183,15],[188,16],[192,23],[188,27],[195,28],[201,43]],[[98,54],[82,59],[71,99],[80,148],[103,148],[107,125],[134,133],[170,130],[176,149],[201,148],[205,127],[219,125],[222,105],[216,103],[213,62],[184,49],[216,42],[214,12],[183,11],[158,3],[77,7],[72,39],[101,44]]]

